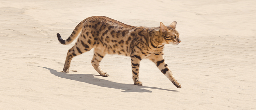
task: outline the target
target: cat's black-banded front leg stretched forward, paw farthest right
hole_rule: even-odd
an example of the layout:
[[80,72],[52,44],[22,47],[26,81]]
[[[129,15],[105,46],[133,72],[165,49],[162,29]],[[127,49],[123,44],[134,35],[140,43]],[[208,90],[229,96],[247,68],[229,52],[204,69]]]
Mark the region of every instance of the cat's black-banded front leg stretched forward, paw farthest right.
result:
[[152,61],[157,65],[158,69],[171,81],[177,88],[181,88],[181,85],[174,78],[172,71],[169,69],[168,65],[164,60],[163,55],[157,55],[158,57],[153,58]]

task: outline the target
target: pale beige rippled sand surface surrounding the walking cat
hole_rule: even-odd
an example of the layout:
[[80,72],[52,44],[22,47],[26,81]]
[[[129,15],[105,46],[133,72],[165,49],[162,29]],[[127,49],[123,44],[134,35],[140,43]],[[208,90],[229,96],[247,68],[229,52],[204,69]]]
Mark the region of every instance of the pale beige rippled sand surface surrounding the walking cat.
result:
[[[0,110],[254,110],[256,1],[0,1]],[[143,86],[132,81],[130,58],[107,55],[101,77],[93,50],[62,73],[75,26],[108,16],[133,26],[177,21],[181,43],[165,46],[176,88],[150,60],[140,64]]]

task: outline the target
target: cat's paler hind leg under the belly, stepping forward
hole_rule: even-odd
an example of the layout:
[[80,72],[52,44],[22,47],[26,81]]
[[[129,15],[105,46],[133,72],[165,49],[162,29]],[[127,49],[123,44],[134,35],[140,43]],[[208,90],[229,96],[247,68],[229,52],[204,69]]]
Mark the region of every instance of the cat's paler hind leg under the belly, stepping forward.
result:
[[102,69],[100,68],[99,66],[99,63],[100,61],[103,59],[103,57],[105,56],[106,54],[101,52],[100,50],[98,49],[94,49],[94,55],[93,55],[93,58],[92,58],[92,66],[93,68],[101,75],[101,76],[109,76],[109,74],[107,72],[103,72]]

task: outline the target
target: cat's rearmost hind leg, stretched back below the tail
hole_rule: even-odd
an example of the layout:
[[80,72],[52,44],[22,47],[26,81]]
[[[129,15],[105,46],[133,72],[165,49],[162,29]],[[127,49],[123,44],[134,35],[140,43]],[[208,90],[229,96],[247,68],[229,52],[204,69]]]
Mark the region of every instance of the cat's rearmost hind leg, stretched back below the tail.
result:
[[73,59],[73,57],[78,56],[84,52],[87,52],[91,48],[92,47],[90,45],[87,45],[86,43],[84,43],[83,40],[78,39],[76,44],[71,49],[68,50],[63,71],[69,72],[70,62]]

